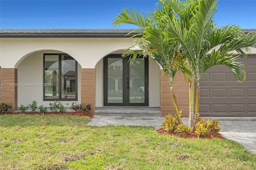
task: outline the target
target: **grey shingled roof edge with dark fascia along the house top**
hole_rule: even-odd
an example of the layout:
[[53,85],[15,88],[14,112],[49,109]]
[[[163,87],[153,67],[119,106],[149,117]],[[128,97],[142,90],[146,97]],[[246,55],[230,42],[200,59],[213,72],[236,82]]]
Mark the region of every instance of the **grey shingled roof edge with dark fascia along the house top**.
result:
[[[0,38],[124,38],[132,29],[0,29]],[[244,29],[245,33],[256,29]],[[136,31],[126,37],[136,35]]]

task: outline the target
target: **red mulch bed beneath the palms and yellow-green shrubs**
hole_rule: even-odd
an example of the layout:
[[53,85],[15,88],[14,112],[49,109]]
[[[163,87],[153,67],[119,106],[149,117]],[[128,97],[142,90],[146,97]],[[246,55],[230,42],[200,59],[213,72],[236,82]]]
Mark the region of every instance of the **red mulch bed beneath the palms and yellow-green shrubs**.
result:
[[198,137],[198,135],[195,134],[195,132],[189,132],[188,134],[179,134],[179,133],[176,133],[176,132],[167,132],[166,130],[164,130],[164,128],[160,128],[156,131],[160,134],[168,134],[168,135],[177,136],[177,137],[180,137],[180,138],[200,138],[200,139],[203,139],[203,138],[206,138],[206,139],[220,138],[220,139],[225,139],[219,133],[208,133],[204,137],[202,137],[202,136]]

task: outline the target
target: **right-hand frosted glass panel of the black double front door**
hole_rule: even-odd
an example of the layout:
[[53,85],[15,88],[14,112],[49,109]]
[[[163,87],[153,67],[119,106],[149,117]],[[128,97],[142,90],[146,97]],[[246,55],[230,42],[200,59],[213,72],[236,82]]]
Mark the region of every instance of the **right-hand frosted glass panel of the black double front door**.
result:
[[129,103],[145,103],[145,62],[142,58],[136,58],[129,63],[129,67]]

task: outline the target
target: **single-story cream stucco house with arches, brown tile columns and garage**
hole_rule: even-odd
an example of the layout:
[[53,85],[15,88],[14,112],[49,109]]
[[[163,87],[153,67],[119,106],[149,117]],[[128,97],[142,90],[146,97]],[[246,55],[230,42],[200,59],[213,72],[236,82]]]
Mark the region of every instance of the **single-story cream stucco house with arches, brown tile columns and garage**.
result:
[[[103,106],[146,106],[174,113],[170,86],[156,61],[129,63],[123,50],[132,30],[0,30],[1,102],[15,110],[33,100]],[[244,30],[250,32],[255,30]],[[256,49],[238,83],[229,69],[216,66],[200,81],[203,116],[256,116]],[[189,85],[179,72],[174,88],[182,115],[189,115]],[[125,107],[124,107],[125,108]]]

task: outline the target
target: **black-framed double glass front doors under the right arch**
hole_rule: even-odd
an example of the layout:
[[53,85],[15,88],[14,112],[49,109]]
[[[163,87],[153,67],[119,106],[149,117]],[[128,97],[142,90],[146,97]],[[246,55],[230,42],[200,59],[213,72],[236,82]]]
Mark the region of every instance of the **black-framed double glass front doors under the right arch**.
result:
[[148,106],[148,58],[104,57],[104,105]]

